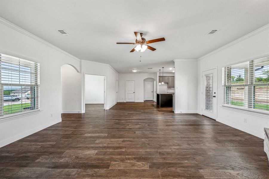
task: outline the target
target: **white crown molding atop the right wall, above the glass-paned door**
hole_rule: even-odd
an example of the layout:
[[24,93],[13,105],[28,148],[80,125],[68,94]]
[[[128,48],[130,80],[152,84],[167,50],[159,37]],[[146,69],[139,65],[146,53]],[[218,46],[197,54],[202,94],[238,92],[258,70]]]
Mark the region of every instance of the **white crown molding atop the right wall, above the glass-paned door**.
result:
[[257,29],[257,30],[254,30],[254,31],[251,32],[251,33],[248,33],[247,35],[245,35],[245,36],[243,36],[243,37],[240,37],[240,38],[238,38],[238,39],[236,39],[236,40],[234,40],[234,41],[232,41],[232,42],[230,42],[230,43],[228,43],[228,44],[226,44],[226,45],[224,45],[224,46],[222,46],[222,47],[220,47],[220,48],[218,48],[218,49],[216,49],[216,50],[213,50],[213,51],[210,52],[210,53],[207,53],[206,55],[204,55],[204,56],[198,58],[198,61],[200,61],[200,60],[202,60],[202,59],[204,59],[204,58],[206,58],[206,57],[209,57],[210,55],[213,55],[213,54],[215,54],[215,53],[218,53],[218,52],[220,52],[220,51],[222,51],[222,50],[225,50],[225,49],[228,48],[228,47],[231,47],[231,46],[233,46],[233,45],[235,45],[235,44],[237,44],[237,43],[239,43],[239,42],[241,42],[241,41],[244,41],[244,40],[246,40],[246,39],[248,39],[248,38],[250,38],[250,37],[252,37],[252,36],[255,36],[255,35],[257,35],[257,34],[263,32],[263,31],[265,31],[265,30],[268,30],[268,29],[269,29],[269,24],[266,24],[265,26],[263,26],[263,27],[261,27],[261,28],[259,28],[259,29]]

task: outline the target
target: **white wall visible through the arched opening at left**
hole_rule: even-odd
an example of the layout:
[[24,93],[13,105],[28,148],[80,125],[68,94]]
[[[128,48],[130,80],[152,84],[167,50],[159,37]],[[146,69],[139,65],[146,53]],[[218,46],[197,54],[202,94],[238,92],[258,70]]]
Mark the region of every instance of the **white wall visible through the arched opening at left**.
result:
[[71,65],[61,67],[62,113],[81,113],[81,73]]

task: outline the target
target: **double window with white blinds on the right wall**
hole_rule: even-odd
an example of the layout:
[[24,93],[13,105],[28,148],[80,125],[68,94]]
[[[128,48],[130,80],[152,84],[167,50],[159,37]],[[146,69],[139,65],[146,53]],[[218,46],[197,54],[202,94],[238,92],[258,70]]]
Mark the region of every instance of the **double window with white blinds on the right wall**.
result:
[[269,57],[222,68],[223,105],[269,112]]

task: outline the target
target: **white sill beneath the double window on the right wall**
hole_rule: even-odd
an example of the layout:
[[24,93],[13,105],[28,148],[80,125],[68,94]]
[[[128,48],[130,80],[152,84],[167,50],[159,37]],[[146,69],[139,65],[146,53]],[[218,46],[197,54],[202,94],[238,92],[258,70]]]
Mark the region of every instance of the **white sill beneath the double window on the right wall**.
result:
[[227,106],[227,105],[222,105],[221,107],[224,108],[224,109],[227,109],[227,110],[231,110],[231,111],[235,111],[235,112],[241,112],[241,113],[244,113],[244,114],[254,115],[254,116],[257,116],[257,117],[269,119],[269,112],[256,111],[256,110],[252,110],[252,109],[245,109],[245,108],[241,108],[241,107],[234,107],[234,106]]

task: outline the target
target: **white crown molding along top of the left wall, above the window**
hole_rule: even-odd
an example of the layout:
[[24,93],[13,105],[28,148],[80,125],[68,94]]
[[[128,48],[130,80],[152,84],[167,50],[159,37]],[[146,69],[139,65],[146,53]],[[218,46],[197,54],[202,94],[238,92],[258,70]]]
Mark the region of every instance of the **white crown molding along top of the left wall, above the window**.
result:
[[22,33],[23,35],[28,36],[28,37],[30,37],[30,38],[32,38],[32,39],[34,39],[34,40],[36,40],[36,41],[38,41],[38,42],[44,44],[44,45],[47,45],[47,46],[50,47],[50,48],[53,48],[54,50],[57,50],[58,52],[61,52],[62,54],[67,55],[67,56],[69,56],[70,58],[73,58],[74,60],[80,61],[79,58],[77,58],[77,57],[71,55],[70,53],[67,53],[66,51],[64,51],[64,50],[62,50],[62,49],[60,49],[60,48],[54,46],[53,44],[50,44],[49,42],[43,40],[42,38],[39,38],[39,37],[33,35],[32,33],[30,33],[30,32],[28,32],[28,31],[22,29],[21,27],[15,25],[15,24],[13,24],[13,23],[11,23],[10,21],[7,21],[6,19],[4,19],[4,18],[2,18],[2,17],[0,17],[0,23],[1,23],[1,24],[4,24],[4,25],[7,26],[7,27],[10,27],[10,28],[12,28],[13,30],[16,30],[17,32]]

